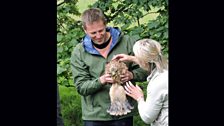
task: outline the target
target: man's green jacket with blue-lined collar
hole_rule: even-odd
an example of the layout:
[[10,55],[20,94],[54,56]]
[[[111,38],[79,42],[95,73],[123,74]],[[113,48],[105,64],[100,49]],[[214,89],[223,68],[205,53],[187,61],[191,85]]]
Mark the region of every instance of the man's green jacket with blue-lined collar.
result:
[[[119,53],[133,55],[132,47],[136,41],[123,35],[119,29],[107,27],[107,31],[110,31],[112,35],[112,44],[106,59],[93,48],[88,35],[84,37],[82,43],[76,45],[72,52],[71,68],[76,89],[81,95],[83,120],[116,120],[133,116],[137,112],[137,102],[127,96],[129,103],[135,107],[131,113],[119,117],[107,113],[110,106],[109,90],[111,85],[100,84],[99,77],[104,74],[105,64],[114,55]],[[132,82],[146,81],[146,71],[133,63],[127,63],[127,66],[134,75]]]

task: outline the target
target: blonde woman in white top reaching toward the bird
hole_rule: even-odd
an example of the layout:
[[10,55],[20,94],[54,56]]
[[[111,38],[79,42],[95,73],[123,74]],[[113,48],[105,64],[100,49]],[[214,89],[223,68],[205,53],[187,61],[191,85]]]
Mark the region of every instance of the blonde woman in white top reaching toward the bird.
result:
[[161,54],[159,42],[152,39],[137,41],[133,51],[135,56],[118,54],[113,59],[135,62],[150,72],[147,98],[144,100],[141,88],[130,81],[124,86],[126,94],[138,101],[138,111],[145,123],[168,126],[168,60]]

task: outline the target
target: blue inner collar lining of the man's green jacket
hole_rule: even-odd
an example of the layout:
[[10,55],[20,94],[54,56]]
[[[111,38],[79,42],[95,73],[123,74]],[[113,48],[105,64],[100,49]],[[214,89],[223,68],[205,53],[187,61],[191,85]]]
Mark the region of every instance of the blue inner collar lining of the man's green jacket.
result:
[[[117,27],[107,27],[106,31],[109,31],[112,35],[112,44],[110,46],[110,50],[118,43],[118,40],[121,35],[121,31]],[[85,37],[82,40],[82,44],[84,49],[89,52],[90,54],[97,54],[100,55],[100,53],[93,47],[93,44],[91,42],[91,38],[88,35],[85,35]],[[109,51],[110,51],[109,50]]]

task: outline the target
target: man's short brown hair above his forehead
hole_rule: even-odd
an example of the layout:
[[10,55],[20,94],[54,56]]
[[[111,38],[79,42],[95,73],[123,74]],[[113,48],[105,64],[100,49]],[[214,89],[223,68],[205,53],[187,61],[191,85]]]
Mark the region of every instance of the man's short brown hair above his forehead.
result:
[[85,10],[81,16],[83,28],[86,29],[86,24],[92,24],[95,21],[102,20],[106,25],[107,20],[104,13],[99,8],[90,8]]

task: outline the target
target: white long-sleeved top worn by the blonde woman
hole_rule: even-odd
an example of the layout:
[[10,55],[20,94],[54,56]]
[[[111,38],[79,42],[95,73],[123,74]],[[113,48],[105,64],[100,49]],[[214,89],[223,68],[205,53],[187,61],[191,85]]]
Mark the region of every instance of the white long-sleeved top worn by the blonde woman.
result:
[[154,69],[148,76],[147,98],[138,102],[142,120],[151,126],[168,126],[168,71]]

